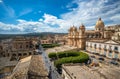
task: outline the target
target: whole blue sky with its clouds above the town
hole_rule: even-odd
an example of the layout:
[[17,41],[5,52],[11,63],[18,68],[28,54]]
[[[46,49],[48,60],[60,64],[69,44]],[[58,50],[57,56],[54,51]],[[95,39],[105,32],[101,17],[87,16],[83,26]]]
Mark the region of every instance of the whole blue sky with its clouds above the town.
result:
[[120,0],[0,0],[0,33],[68,32],[120,24]]

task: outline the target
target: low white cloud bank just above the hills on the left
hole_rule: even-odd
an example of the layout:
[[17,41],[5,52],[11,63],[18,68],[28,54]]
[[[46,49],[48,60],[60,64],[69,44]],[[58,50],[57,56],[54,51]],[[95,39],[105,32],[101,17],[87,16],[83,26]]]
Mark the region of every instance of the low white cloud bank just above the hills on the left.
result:
[[63,32],[61,28],[50,27],[44,21],[26,21],[18,19],[18,24],[5,24],[0,22],[0,33],[30,33],[30,32]]

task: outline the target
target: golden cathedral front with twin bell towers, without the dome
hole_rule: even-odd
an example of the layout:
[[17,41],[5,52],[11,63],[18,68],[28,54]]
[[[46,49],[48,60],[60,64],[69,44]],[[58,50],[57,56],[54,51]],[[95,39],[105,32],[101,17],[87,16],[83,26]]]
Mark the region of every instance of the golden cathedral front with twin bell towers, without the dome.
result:
[[86,41],[86,37],[85,37],[84,25],[81,25],[78,30],[75,26],[69,29],[68,45],[84,49],[85,41]]

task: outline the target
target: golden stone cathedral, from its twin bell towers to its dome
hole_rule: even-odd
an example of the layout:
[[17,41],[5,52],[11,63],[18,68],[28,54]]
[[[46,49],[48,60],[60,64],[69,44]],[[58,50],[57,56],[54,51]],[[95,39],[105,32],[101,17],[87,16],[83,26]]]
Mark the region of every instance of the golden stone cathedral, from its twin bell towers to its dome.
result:
[[97,21],[95,30],[86,31],[83,24],[79,27],[79,29],[75,26],[70,27],[68,34],[68,45],[85,49],[86,40],[93,38],[104,38],[104,22],[101,18]]

